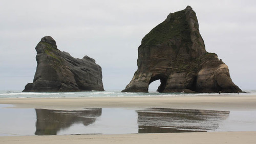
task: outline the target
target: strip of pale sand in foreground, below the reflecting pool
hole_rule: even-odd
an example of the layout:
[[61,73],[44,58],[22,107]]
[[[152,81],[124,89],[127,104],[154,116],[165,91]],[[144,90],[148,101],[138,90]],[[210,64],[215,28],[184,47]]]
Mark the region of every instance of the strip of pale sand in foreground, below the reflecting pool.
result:
[[154,133],[121,135],[54,135],[0,137],[0,143],[255,143],[256,131],[207,133]]

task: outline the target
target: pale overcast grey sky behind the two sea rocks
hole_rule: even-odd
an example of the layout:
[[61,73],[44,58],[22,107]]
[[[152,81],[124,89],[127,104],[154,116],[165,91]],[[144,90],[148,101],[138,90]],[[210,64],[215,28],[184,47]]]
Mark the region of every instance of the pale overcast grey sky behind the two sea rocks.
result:
[[122,90],[137,70],[141,39],[186,6],[197,14],[206,51],[228,65],[242,90],[256,89],[256,1],[246,0],[0,0],[0,89],[33,82],[35,46],[52,36],[60,51],[96,60],[105,90]]

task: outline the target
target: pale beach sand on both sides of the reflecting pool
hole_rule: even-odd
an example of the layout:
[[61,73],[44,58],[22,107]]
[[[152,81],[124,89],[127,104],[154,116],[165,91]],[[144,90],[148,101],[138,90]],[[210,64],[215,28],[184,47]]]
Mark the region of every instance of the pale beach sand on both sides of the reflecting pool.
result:
[[[15,108],[81,110],[84,108],[181,108],[256,110],[256,95],[129,98],[17,98],[0,99]],[[151,133],[116,135],[52,135],[0,137],[0,143],[255,143],[256,131],[207,133]]]

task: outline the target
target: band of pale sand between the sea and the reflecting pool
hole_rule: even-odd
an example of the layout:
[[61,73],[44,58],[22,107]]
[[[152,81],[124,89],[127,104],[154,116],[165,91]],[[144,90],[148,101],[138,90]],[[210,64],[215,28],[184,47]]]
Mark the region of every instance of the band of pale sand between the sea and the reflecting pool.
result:
[[256,110],[256,94],[200,97],[97,97],[97,98],[0,98],[14,108],[82,110],[84,108],[177,108],[206,110]]

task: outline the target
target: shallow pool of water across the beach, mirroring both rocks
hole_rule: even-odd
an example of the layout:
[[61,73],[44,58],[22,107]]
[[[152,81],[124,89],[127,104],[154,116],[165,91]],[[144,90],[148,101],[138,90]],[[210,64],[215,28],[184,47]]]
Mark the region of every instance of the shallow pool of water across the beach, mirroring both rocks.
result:
[[10,106],[0,105],[0,136],[256,130],[256,111],[5,108]]

